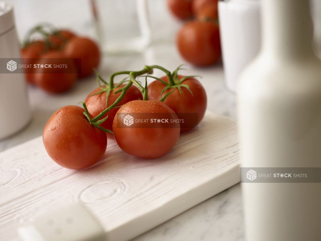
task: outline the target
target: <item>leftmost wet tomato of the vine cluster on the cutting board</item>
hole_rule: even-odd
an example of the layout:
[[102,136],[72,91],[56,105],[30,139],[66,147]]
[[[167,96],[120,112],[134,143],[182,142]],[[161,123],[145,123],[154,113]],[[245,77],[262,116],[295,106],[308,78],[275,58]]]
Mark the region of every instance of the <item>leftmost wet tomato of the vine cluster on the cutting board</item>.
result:
[[106,151],[105,132],[93,127],[83,112],[83,108],[75,105],[62,107],[49,118],[43,130],[48,155],[65,168],[91,166]]

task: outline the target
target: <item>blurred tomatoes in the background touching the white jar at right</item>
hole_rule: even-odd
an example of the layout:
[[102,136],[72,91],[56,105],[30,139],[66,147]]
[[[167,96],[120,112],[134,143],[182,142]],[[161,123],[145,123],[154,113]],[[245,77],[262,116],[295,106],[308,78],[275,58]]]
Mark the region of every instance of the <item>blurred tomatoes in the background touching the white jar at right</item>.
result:
[[[215,64],[221,57],[218,0],[167,0],[170,11],[187,21],[177,33],[181,56],[195,66]],[[193,19],[195,17],[195,19]]]

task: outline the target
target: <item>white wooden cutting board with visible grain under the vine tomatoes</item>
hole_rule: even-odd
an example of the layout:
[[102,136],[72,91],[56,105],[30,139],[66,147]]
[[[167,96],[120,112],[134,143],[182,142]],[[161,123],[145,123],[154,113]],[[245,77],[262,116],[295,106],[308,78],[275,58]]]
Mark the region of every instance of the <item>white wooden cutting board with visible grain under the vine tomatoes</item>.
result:
[[239,182],[234,121],[207,112],[158,159],[124,153],[108,139],[105,155],[69,170],[47,155],[42,137],[0,153],[0,240],[48,210],[81,202],[111,241],[133,238]]

